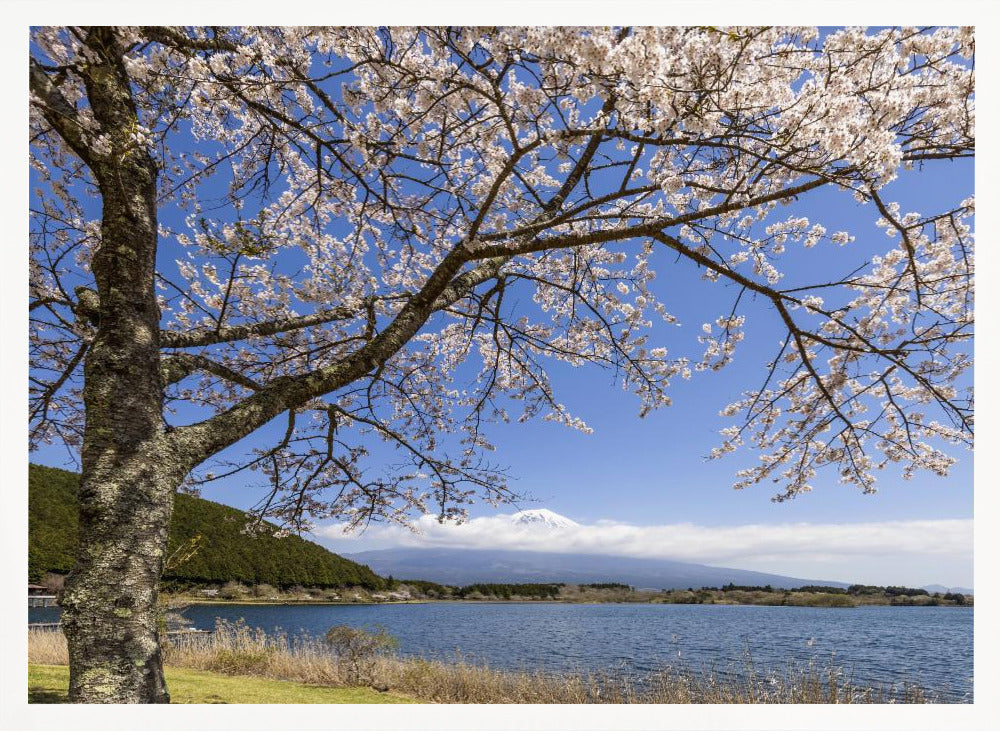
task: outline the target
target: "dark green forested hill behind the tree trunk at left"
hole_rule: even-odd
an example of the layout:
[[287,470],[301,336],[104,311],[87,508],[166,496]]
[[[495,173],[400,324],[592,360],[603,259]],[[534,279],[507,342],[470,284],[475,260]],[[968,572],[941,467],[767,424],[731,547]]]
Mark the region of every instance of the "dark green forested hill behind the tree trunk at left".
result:
[[[40,465],[28,468],[28,578],[73,567],[77,540],[76,491],[80,476]],[[242,533],[242,511],[192,495],[179,494],[170,525],[168,554],[197,535],[197,552],[169,569],[164,579],[294,586],[363,586],[386,582],[367,566],[331,553],[298,536],[250,537]]]

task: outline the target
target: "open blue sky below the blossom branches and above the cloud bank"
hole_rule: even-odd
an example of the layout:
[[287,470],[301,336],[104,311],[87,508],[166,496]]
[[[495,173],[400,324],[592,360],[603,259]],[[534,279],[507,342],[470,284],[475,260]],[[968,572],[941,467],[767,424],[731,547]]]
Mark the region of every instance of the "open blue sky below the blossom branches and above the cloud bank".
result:
[[[932,161],[923,171],[904,173],[889,186],[884,197],[900,201],[904,211],[926,212],[957,204],[972,190],[971,161]],[[817,271],[846,274],[864,263],[869,254],[882,253],[892,245],[883,230],[874,226],[877,218],[874,207],[859,206],[847,193],[815,191],[794,206],[779,210],[777,217],[793,213],[822,223],[831,232],[848,230],[857,240],[843,248],[827,243],[804,251],[790,246],[785,257],[786,285],[800,278],[809,281]],[[174,225],[180,223],[169,212],[165,212],[164,220]],[[165,244],[161,262],[172,261],[176,255],[177,250]],[[282,263],[289,265],[288,261]],[[658,326],[650,344],[665,345],[673,354],[697,360],[701,324],[727,314],[735,293],[724,285],[701,281],[694,267],[675,264],[666,256],[654,264],[658,264],[659,273],[655,289],[681,326]],[[690,523],[709,528],[972,518],[970,452],[956,455],[959,462],[947,478],[919,473],[914,479],[903,481],[898,471],[886,470],[879,475],[879,492],[875,495],[840,485],[835,474],[822,472],[814,482],[813,492],[784,503],[771,501],[776,490],[768,485],[734,490],[731,484],[735,471],[752,464],[756,456],[743,450],[723,460],[705,459],[719,443],[719,429],[729,423],[718,412],[742,390],[753,388],[763,379],[764,364],[776,352],[776,343],[782,337],[777,315],[764,304],[751,304],[745,313],[747,340],[737,351],[734,362],[721,372],[695,373],[688,381],[676,379],[671,389],[673,406],[644,419],[638,418],[638,401],[614,383],[612,373],[552,363],[559,400],[582,417],[594,433],[583,434],[541,420],[492,426],[488,433],[498,447],[493,455],[495,461],[508,468],[512,488],[529,498],[501,512],[545,507],[584,524],[614,521],[656,527]],[[474,375],[474,371],[470,373]],[[234,449],[245,451],[264,444],[264,439],[283,428],[283,423],[272,423]],[[395,459],[391,450],[381,446],[376,446],[374,452],[385,463]],[[69,465],[62,447],[43,448],[32,455],[32,460],[53,466]],[[263,493],[247,485],[245,479],[215,483],[204,489],[203,496],[249,508]],[[474,518],[496,512],[488,505],[475,505],[471,509]],[[321,540],[343,551],[398,542],[390,532],[377,529],[350,540],[323,532]],[[952,558],[951,563],[935,567],[947,576],[928,575],[923,583],[971,585],[971,525],[968,551]],[[898,557],[892,567],[885,569],[883,583],[900,581],[894,576],[911,563],[920,563],[912,551]],[[791,561],[786,564],[793,565]],[[758,568],[745,562],[744,566]],[[818,570],[821,569],[824,567]],[[791,568],[782,569],[780,565],[768,570],[792,572]],[[842,570],[850,569],[845,566]],[[895,574],[890,575],[892,572]],[[853,576],[816,575],[816,578],[854,580]],[[877,581],[871,577],[866,580]]]

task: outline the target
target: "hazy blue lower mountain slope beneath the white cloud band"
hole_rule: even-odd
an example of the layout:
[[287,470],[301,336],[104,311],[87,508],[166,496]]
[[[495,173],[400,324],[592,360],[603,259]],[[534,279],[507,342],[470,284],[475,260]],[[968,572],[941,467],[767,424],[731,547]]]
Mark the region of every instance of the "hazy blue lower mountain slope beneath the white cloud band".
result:
[[473,583],[621,582],[644,589],[686,589],[703,586],[837,586],[837,581],[796,579],[759,571],[652,558],[628,558],[537,551],[493,551],[454,548],[389,548],[346,554],[383,576],[425,579],[461,586]]

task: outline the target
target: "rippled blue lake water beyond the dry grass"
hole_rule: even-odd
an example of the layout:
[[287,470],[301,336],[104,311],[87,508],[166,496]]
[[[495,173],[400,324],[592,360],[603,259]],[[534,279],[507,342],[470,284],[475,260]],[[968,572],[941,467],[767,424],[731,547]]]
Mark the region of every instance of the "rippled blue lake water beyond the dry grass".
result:
[[[498,668],[638,674],[666,666],[790,663],[842,668],[858,684],[905,680],[952,701],[972,700],[973,610],[954,607],[814,609],[684,604],[439,603],[334,606],[195,605],[199,629],[217,619],[290,635],[322,636],[333,625],[381,625],[405,655]],[[30,609],[51,622],[57,609]]]

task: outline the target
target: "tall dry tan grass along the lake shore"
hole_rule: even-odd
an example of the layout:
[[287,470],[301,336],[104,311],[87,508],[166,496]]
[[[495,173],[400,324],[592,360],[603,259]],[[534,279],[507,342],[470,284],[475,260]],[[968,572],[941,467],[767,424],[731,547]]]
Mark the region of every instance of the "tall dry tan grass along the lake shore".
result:
[[[61,632],[28,631],[30,663],[65,665]],[[268,635],[242,624],[220,624],[209,635],[171,638],[164,655],[173,667],[345,687],[348,668],[321,640]],[[642,682],[624,672],[550,674],[496,670],[462,658],[440,661],[385,656],[371,685],[435,703],[927,703],[939,700],[910,684],[858,687],[835,667],[758,671],[669,668]]]

